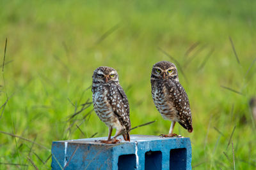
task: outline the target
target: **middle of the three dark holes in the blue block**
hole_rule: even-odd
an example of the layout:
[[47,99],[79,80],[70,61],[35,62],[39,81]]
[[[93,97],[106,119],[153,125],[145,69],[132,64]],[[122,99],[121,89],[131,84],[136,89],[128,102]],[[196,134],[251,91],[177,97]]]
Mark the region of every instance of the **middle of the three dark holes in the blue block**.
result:
[[162,169],[162,152],[149,151],[145,153],[145,170]]

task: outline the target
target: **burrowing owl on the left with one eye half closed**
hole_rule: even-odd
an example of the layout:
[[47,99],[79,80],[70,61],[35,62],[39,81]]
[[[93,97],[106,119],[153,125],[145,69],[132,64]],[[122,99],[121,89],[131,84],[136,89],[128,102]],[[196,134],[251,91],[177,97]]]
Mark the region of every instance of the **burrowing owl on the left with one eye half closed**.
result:
[[[131,129],[130,110],[127,96],[119,84],[118,74],[111,67],[98,67],[92,76],[92,101],[95,112],[102,122],[109,127],[108,140],[103,143],[116,143],[120,134],[125,141],[130,141]],[[116,134],[111,139],[111,132],[116,129]]]

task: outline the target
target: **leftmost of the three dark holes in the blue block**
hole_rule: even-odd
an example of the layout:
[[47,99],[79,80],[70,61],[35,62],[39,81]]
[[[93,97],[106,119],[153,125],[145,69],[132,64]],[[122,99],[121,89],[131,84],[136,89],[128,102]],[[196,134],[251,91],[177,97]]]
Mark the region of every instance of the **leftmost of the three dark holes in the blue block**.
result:
[[118,169],[119,170],[136,169],[136,155],[135,154],[120,155],[118,157]]

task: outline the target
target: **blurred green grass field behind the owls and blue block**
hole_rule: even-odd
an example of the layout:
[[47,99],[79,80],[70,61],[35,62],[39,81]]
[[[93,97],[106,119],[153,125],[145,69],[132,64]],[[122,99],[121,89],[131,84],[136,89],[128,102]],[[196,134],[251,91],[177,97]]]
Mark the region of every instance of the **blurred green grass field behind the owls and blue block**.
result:
[[1,64],[8,38],[0,169],[51,169],[52,141],[108,135],[90,105],[98,66],[118,70],[132,127],[157,120],[131,134],[167,133],[171,122],[150,94],[150,71],[160,60],[179,64],[188,92],[194,131],[180,125],[174,131],[191,138],[193,169],[255,169],[248,105],[256,94],[255,1],[3,0],[0,6]]

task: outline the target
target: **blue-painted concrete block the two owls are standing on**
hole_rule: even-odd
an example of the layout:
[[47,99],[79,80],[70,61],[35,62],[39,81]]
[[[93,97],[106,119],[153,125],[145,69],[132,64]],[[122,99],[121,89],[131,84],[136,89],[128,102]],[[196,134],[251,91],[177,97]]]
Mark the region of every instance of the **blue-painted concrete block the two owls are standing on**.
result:
[[102,139],[54,141],[52,169],[191,169],[189,138],[131,135],[131,142],[117,144]]

